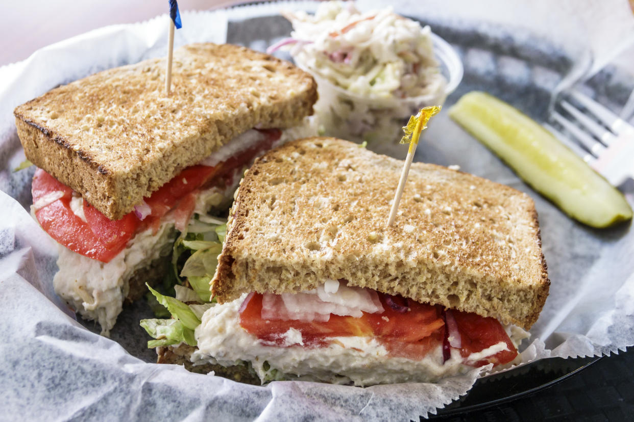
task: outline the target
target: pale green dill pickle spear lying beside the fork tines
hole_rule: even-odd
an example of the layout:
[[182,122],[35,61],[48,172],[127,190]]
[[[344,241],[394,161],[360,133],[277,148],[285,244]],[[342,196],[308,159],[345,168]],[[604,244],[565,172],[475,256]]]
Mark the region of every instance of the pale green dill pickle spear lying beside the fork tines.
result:
[[506,102],[484,92],[469,92],[449,115],[575,220],[604,228],[632,218],[630,204],[618,189]]

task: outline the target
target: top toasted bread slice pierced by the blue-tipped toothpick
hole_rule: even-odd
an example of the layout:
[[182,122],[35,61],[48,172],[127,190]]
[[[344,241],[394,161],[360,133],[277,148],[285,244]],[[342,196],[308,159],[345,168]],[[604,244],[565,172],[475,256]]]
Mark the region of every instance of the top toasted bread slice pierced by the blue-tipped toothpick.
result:
[[252,127],[287,128],[313,113],[316,84],[244,47],[191,44],[165,60],[101,71],[18,106],[27,158],[111,219]]

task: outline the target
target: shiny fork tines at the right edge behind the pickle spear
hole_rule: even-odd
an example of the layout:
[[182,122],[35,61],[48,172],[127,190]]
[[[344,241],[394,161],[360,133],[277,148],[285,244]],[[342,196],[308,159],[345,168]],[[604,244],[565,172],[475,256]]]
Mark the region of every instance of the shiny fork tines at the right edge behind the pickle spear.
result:
[[605,106],[569,89],[554,102],[550,122],[544,126],[612,185],[634,178],[634,127]]

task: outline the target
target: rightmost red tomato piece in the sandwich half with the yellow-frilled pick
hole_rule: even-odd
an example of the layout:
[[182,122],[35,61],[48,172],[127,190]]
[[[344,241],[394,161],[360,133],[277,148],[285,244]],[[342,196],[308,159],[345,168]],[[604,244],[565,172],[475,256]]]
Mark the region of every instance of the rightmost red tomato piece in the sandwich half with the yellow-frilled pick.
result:
[[482,366],[488,363],[505,364],[517,356],[517,349],[508,338],[507,333],[495,318],[484,318],[474,313],[453,311],[462,341],[460,354],[467,359],[470,354],[481,352],[499,342],[507,344],[507,351],[501,351],[485,360],[469,363],[471,366]]

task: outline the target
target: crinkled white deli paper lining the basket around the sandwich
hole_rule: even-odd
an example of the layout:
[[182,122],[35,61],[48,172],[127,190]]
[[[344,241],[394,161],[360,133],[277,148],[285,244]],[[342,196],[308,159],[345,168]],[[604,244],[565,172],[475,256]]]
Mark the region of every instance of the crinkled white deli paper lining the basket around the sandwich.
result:
[[[183,13],[184,27],[176,31],[175,44],[224,42],[228,19],[270,15],[278,9],[269,4]],[[0,382],[4,387],[0,419],[19,414],[23,419],[295,420],[318,416],[407,420],[435,413],[437,407],[465,394],[488,368],[437,384],[358,388],[273,382],[257,387],[189,373],[179,366],[145,363],[74,320],[52,290],[53,241],[25,209],[32,169],[10,171],[24,159],[12,111],[58,84],[164,55],[165,19],[95,30],[0,68],[0,189],[4,191],[0,192]],[[426,139],[430,140],[424,143],[467,139],[446,115],[437,119],[429,128]],[[459,163],[463,170],[529,192],[540,214],[552,286],[540,320],[531,330],[536,340],[522,352],[524,361],[598,356],[634,344],[634,234],[630,228],[598,232],[580,227],[519,182],[486,150],[477,151],[482,160]],[[630,190],[630,203],[632,194]]]

